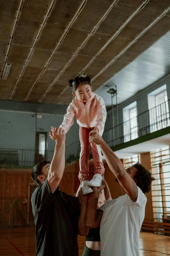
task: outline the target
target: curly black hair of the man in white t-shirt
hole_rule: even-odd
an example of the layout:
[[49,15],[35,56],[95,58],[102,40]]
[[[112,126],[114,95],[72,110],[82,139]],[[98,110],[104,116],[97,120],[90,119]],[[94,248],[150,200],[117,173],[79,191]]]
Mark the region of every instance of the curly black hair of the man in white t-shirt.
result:
[[139,162],[133,165],[137,169],[135,179],[137,180],[136,185],[142,190],[142,192],[148,193],[151,190],[151,183],[155,178],[152,174]]

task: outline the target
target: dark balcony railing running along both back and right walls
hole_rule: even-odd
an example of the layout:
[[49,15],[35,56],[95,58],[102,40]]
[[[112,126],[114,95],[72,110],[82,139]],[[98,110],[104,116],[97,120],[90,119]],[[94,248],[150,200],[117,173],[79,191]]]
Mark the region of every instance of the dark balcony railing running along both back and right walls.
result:
[[[170,101],[163,102],[138,116],[119,124],[103,133],[103,139],[113,147],[154,131],[170,127],[169,108]],[[42,160],[52,160],[54,151],[41,152],[30,149],[0,148],[0,166],[34,166]],[[77,161],[80,155],[80,141],[65,147],[65,162]],[[90,155],[92,158],[92,155]]]

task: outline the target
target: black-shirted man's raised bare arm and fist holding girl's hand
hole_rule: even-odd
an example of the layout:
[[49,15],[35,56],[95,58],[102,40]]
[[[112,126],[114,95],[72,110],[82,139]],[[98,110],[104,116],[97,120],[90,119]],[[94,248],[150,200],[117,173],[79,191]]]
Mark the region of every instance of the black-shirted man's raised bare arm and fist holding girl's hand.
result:
[[63,128],[52,128],[50,133],[56,145],[47,179],[51,192],[54,193],[63,177],[65,167],[65,131]]

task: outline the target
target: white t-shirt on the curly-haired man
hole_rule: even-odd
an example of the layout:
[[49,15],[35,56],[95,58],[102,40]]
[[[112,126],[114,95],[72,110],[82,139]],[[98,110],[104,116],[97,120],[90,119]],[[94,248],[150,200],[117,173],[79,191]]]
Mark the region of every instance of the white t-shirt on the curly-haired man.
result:
[[101,256],[139,256],[139,233],[147,197],[138,187],[137,201],[125,194],[100,208]]

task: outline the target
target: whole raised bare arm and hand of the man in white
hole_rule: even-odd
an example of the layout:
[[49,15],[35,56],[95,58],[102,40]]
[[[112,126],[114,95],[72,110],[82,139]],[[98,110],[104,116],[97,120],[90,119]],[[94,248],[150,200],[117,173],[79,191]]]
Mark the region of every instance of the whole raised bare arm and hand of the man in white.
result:
[[105,156],[106,162],[119,181],[120,186],[126,191],[128,196],[135,202],[138,196],[138,187],[135,181],[128,175],[122,162],[106,144],[102,137],[97,133],[92,133],[89,138],[90,142],[98,144]]

